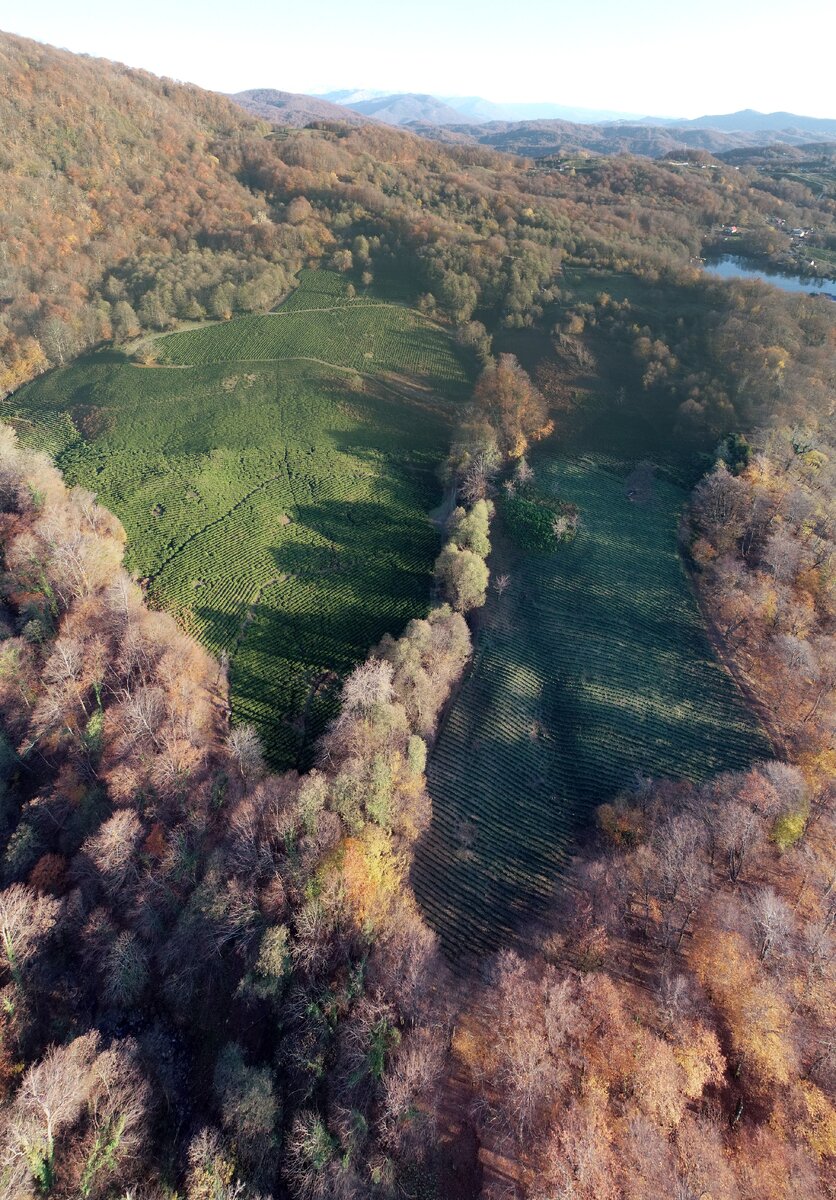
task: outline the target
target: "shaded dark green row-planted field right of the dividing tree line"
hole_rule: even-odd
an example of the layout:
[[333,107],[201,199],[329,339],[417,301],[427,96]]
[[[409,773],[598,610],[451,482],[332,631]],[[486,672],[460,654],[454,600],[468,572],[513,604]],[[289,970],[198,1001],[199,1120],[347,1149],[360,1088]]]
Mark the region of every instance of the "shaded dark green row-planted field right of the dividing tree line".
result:
[[537,473],[577,504],[579,532],[552,554],[500,552],[511,586],[488,600],[428,767],[414,884],[457,956],[524,935],[578,828],[639,774],[699,779],[770,749],[676,553],[685,493],[612,460],[541,460]]

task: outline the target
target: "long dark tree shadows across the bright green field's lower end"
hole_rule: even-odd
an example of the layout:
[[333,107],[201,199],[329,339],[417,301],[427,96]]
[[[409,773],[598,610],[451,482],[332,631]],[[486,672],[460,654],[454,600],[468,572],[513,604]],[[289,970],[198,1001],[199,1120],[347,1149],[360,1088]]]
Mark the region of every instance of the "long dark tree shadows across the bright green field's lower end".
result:
[[[276,570],[258,599],[236,616],[194,608],[205,640],[230,653],[234,712],[257,725],[277,769],[311,764],[338,679],[426,613],[438,550],[429,521],[383,502],[323,500],[294,514],[288,540],[267,551]],[[326,544],[303,540],[306,530]],[[324,673],[335,676],[327,688]]]

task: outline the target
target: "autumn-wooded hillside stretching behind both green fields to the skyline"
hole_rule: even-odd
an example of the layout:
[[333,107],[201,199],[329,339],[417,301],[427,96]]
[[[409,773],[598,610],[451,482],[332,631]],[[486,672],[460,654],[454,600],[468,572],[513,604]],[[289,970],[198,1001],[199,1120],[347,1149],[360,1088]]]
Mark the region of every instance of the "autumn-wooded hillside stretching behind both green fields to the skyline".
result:
[[[196,88],[8,35],[0,47],[0,392],[102,340],[272,308],[324,257],[368,281],[397,275],[469,337],[474,317],[548,328],[561,265],[700,292],[692,259],[720,222],[760,230],[770,252],[782,238],[772,212],[823,233],[836,221],[825,194],[716,162],[619,156],[536,172],[392,128],[271,131]],[[699,299],[728,362],[750,340],[768,366],[776,344],[793,360],[820,344],[804,301],[784,347],[741,320],[759,302],[745,292]],[[711,436],[735,419],[741,383],[722,383],[729,408],[711,416]],[[783,407],[801,402],[790,385]]]

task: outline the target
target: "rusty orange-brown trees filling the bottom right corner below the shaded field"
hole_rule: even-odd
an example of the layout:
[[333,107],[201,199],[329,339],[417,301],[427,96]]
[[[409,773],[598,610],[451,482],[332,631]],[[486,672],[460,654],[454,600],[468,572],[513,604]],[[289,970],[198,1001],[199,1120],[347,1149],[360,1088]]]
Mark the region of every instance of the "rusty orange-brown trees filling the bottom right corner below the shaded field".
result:
[[522,1195],[777,1200],[777,1164],[828,1195],[832,797],[806,845],[778,839],[806,787],[765,763],[600,810],[541,953],[500,954],[455,1042]]

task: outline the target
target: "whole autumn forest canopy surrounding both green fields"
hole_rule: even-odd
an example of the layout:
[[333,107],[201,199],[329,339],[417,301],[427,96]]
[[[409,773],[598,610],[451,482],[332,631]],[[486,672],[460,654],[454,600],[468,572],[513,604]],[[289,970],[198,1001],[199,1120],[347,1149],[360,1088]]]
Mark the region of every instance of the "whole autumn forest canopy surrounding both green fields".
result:
[[[0,125],[0,397],[92,348],[127,361],[271,312],[311,265],[348,302],[415,304],[476,379],[433,602],[347,672],[307,773],[267,769],[223,664],[125,570],[116,516],[0,424],[0,1193],[828,1200],[836,320],[698,260],[732,222],[781,253],[776,211],[824,246],[832,197],[710,156],[566,172],[379,125],[282,130],[11,35]],[[467,974],[413,892],[427,763],[493,649],[497,547],[560,570],[582,545],[587,514],[540,497],[528,455],[591,419],[650,431],[696,482],[699,634],[772,752],[634,770],[541,923]],[[652,503],[646,468],[625,508]],[[618,653],[599,592],[577,605],[611,612]],[[551,696],[524,733],[549,752]],[[474,853],[475,824],[445,833]]]

